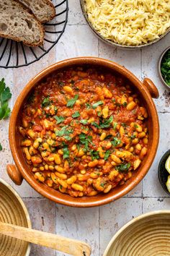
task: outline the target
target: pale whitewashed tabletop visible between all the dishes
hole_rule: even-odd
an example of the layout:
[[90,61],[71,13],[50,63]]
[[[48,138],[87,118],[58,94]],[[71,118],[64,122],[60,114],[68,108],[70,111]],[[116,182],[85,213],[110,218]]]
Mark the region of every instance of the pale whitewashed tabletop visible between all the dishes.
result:
[[[157,72],[158,57],[169,46],[169,42],[170,34],[159,43],[142,50],[126,51],[107,46],[98,40],[86,25],[81,14],[79,0],[69,0],[68,25],[57,46],[43,59],[29,67],[0,69],[0,78],[5,77],[6,84],[12,90],[11,107],[24,85],[37,72],[56,61],[76,56],[99,56],[116,61],[130,69],[140,80],[143,80],[144,77],[151,78],[160,93],[160,97],[155,103],[160,121],[161,137],[151,169],[143,182],[140,182],[138,187],[127,196],[99,208],[78,209],[55,205],[54,202],[38,195],[26,182],[21,187],[12,184],[6,175],[6,164],[13,161],[8,140],[9,119],[0,121],[0,142],[3,145],[3,150],[0,152],[0,178],[12,184],[12,187],[22,196],[30,212],[33,228],[84,240],[91,244],[93,256],[102,256],[115,232],[132,218],[151,210],[170,208],[170,198],[161,188],[157,176],[161,155],[170,148],[170,91],[161,84]],[[63,254],[32,245],[30,255]]]

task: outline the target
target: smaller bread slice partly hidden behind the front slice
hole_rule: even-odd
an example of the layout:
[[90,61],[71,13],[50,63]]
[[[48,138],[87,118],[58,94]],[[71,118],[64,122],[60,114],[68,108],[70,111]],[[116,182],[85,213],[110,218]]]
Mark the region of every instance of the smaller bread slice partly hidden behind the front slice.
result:
[[29,8],[41,23],[53,20],[55,17],[55,7],[50,0],[19,0]]

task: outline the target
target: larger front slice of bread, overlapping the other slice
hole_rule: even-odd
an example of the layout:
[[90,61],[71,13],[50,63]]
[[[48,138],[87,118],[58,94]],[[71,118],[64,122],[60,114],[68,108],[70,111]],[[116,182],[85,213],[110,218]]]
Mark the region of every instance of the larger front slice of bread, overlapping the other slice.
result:
[[23,42],[27,46],[40,46],[44,28],[37,18],[17,0],[0,0],[0,36]]

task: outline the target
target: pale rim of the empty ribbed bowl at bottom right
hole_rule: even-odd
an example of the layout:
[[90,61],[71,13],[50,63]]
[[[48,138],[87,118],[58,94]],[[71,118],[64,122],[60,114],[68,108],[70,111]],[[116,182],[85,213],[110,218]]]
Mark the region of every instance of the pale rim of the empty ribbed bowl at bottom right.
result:
[[112,236],[112,239],[109,241],[109,244],[107,244],[107,247],[104,251],[104,255],[103,256],[109,256],[108,252],[109,249],[112,247],[113,242],[115,241],[115,239],[117,239],[118,236],[120,236],[120,234],[122,234],[123,231],[125,231],[125,229],[127,229],[129,226],[131,226],[133,223],[140,221],[144,218],[150,217],[150,216],[158,216],[160,214],[163,215],[170,215],[170,210],[153,210],[151,212],[148,213],[143,213],[140,216],[137,216],[135,218],[133,218],[131,221],[128,221],[128,223],[126,223],[124,226],[122,226],[122,228],[120,228],[116,234],[114,236]]

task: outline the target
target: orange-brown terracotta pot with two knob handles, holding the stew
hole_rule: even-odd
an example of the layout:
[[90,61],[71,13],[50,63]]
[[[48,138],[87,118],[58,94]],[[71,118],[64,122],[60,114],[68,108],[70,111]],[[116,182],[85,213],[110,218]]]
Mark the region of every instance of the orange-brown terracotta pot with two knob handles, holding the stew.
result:
[[[73,198],[69,195],[64,195],[61,192],[57,192],[44,184],[37,183],[24,161],[24,155],[19,145],[19,133],[17,132],[16,127],[19,125],[19,111],[22,108],[24,99],[27,97],[28,93],[30,93],[30,90],[32,90],[32,88],[34,88],[35,85],[40,82],[40,80],[52,72],[57,71],[58,69],[82,64],[98,65],[100,67],[102,66],[111,70],[111,72],[117,72],[130,80],[130,82],[134,85],[134,88],[138,90],[140,98],[148,110],[148,132],[150,136],[146,158],[141,163],[138,171],[134,172],[133,177],[126,184],[115,188],[108,194],[96,195],[94,197]],[[28,82],[14,105],[9,124],[9,143],[16,166],[11,164],[7,166],[7,172],[9,176],[17,185],[22,184],[22,179],[24,178],[42,196],[63,205],[69,205],[73,207],[92,207],[97,205],[104,205],[108,202],[117,200],[118,198],[130,192],[130,190],[133,189],[143,179],[143,177],[148,172],[148,169],[151,167],[153,159],[156,155],[159,138],[159,125],[156,107],[152,98],[158,98],[158,90],[153,82],[151,82],[151,80],[145,78],[143,82],[140,82],[134,74],[128,71],[128,69],[125,69],[125,67],[122,67],[115,62],[94,57],[80,57],[53,64],[52,66],[37,74],[36,77]]]

